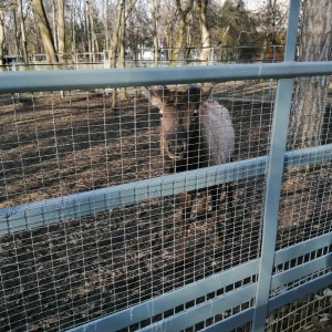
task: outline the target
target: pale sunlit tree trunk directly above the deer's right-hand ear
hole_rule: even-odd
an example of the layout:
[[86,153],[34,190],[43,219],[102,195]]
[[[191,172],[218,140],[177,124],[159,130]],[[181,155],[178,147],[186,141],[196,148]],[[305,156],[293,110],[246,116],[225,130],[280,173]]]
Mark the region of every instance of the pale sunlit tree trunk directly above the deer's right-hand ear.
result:
[[199,54],[199,60],[201,64],[208,64],[210,59],[210,32],[207,27],[206,21],[206,11],[208,0],[196,0],[197,4],[197,13],[199,17],[199,27],[200,27],[200,34],[201,34],[201,51]]

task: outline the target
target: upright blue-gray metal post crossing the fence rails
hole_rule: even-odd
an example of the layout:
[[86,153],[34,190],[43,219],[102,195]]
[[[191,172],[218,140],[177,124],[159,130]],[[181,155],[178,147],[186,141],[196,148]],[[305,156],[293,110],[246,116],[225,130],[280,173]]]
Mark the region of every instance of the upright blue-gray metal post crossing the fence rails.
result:
[[[297,46],[298,20],[300,0],[291,0],[289,7],[287,45],[284,61],[293,61]],[[276,107],[273,115],[270,154],[267,174],[267,190],[263,216],[263,236],[259,279],[257,284],[252,331],[264,331],[268,314],[268,301],[272,278],[278,230],[278,211],[281,193],[281,181],[284,164],[287,131],[292,97],[292,79],[278,82]]]

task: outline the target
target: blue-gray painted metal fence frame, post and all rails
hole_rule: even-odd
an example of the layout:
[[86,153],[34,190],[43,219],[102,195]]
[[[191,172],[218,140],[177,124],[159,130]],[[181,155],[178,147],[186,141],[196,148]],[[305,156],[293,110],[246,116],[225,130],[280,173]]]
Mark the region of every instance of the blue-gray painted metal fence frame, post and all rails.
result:
[[[252,281],[236,290],[216,295],[204,303],[175,313],[170,318],[142,330],[184,330],[246,302],[250,303],[248,309],[206,328],[206,331],[228,331],[251,321],[253,331],[263,331],[266,317],[269,312],[332,283],[332,273],[325,273],[290,290],[284,289],[284,284],[291,281],[305,278],[312,272],[330,267],[332,264],[331,253],[325,253],[299,267],[278,272],[279,264],[331,246],[332,234],[325,234],[274,251],[282,172],[286,168],[330,162],[332,156],[332,145],[284,152],[292,79],[300,75],[332,74],[331,62],[297,63],[293,61],[299,2],[299,0],[291,1],[286,61],[278,64],[135,69],[122,70],[121,75],[118,75],[118,70],[1,73],[0,93],[209,81],[224,82],[243,79],[280,79],[273,113],[270,149],[267,156],[0,209],[1,236],[106,211],[155,197],[174,195],[184,190],[266,175],[267,196],[262,249],[259,259],[221,271],[98,320],[75,326],[71,331],[116,331],[139,323],[153,315],[163,314],[167,310],[228,284],[234,284],[246,278],[255,279],[255,276],[258,276],[257,282]],[[64,76],[65,80],[63,80]],[[277,272],[272,273],[273,269]],[[271,291],[273,297],[270,297]]]

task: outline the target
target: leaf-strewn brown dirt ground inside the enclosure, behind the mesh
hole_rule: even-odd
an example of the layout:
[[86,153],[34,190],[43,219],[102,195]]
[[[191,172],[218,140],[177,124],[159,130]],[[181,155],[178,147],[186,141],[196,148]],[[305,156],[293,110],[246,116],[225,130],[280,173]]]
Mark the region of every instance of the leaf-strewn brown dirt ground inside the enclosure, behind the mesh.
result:
[[[235,160],[268,152],[274,85],[257,84],[260,93],[248,82],[216,89],[231,113]],[[0,208],[162,175],[158,110],[128,96],[116,110],[107,91],[0,96]],[[330,230],[326,168],[284,174],[278,248]],[[218,246],[216,220],[193,214],[181,262],[175,196],[0,237],[0,331],[64,330],[259,257],[264,186],[264,176],[234,184],[236,222],[224,199]]]

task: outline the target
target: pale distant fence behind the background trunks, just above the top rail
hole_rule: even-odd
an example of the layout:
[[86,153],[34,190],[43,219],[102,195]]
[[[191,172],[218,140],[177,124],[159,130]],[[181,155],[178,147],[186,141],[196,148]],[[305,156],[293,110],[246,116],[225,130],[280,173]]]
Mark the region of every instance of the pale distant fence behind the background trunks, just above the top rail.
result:
[[[158,49],[158,66],[169,66],[169,53],[176,49]],[[209,64],[230,63],[274,63],[283,59],[284,45],[252,45],[252,46],[218,46],[210,48]],[[179,49],[176,65],[200,65],[199,48]],[[12,55],[9,62],[4,62],[4,71],[25,70],[64,70],[64,69],[110,69],[110,50],[97,53],[74,53],[65,54],[65,62],[49,64],[45,54],[32,54],[29,64],[24,64],[22,56]],[[126,68],[149,68],[154,66],[154,50],[144,48],[127,50],[125,53]]]

